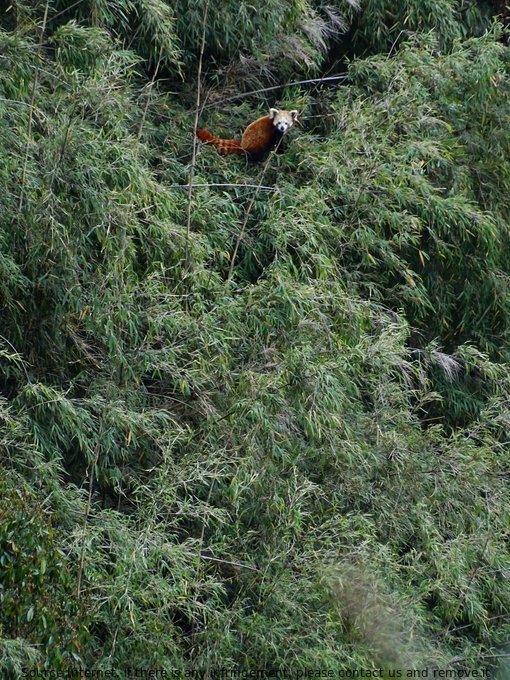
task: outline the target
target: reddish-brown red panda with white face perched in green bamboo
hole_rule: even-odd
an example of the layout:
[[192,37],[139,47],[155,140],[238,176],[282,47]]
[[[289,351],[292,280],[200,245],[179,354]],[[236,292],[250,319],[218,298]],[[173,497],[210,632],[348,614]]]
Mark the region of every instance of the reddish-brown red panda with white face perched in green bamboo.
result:
[[208,130],[198,130],[197,137],[206,144],[212,144],[222,155],[238,154],[249,160],[259,161],[278,144],[294,125],[297,116],[297,111],[269,109],[268,116],[262,116],[248,125],[240,142],[235,139],[220,139]]

